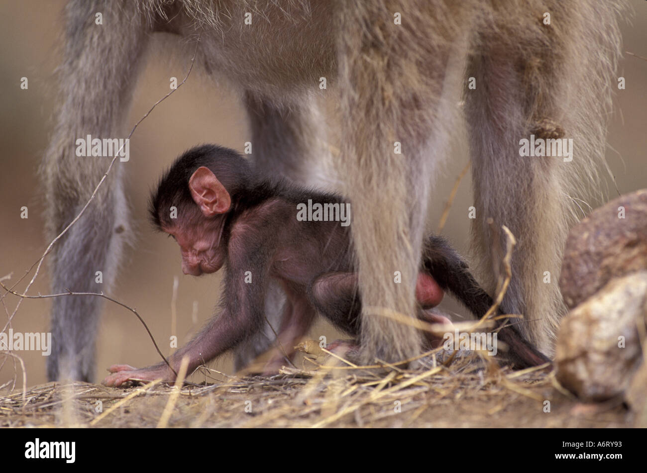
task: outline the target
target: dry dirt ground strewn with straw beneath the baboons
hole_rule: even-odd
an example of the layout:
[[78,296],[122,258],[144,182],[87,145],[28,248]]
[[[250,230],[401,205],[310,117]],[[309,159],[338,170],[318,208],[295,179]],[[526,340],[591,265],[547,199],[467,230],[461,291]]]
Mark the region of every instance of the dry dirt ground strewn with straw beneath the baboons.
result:
[[[330,361],[325,361],[330,364]],[[428,357],[417,371],[305,371],[206,384],[106,388],[47,383],[0,393],[0,426],[89,427],[628,427],[621,401],[586,405],[550,366],[513,372],[477,355]],[[193,378],[195,379],[195,377]]]

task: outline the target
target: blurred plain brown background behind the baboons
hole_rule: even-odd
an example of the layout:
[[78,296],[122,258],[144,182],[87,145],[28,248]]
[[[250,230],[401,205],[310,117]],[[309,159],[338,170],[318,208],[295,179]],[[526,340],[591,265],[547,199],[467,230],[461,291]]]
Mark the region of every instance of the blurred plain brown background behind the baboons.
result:
[[[62,0],[0,1],[0,277],[13,273],[12,280],[25,271],[43,253],[43,189],[38,167],[52,128],[56,82],[52,75],[60,59],[56,47],[63,28]],[[623,24],[624,49],[647,57],[647,2],[633,0],[635,17]],[[156,41],[154,40],[153,43]],[[153,48],[146,70],[140,76],[127,129],[168,92],[169,78],[181,80],[186,74],[188,58],[178,61],[160,59],[159,41]],[[614,114],[609,127],[607,160],[620,193],[647,187],[645,150],[647,148],[647,60],[626,55],[620,62],[619,75],[626,78],[626,90],[617,92]],[[28,78],[28,90],[20,89],[21,77]],[[586,87],[586,83],[582,84]],[[218,300],[219,277],[193,278],[180,270],[179,250],[173,240],[154,234],[146,222],[146,199],[162,168],[182,151],[198,143],[219,143],[241,151],[248,139],[247,121],[239,98],[223,85],[214,88],[208,81],[193,75],[168,100],[157,107],[138,127],[131,139],[130,162],[127,165],[127,194],[137,225],[137,240],[127,251],[124,269],[111,293],[116,299],[135,306],[148,322],[162,346],[168,346],[171,335],[171,291],[173,277],[179,277],[177,299],[177,335],[179,343],[212,315]],[[460,137],[444,174],[438,180],[437,205],[430,213],[436,227],[446,196],[456,176],[466,163],[465,140]],[[609,196],[617,196],[613,184]],[[461,182],[444,233],[468,255],[469,220],[466,209],[472,205],[468,176]],[[592,203],[593,205],[594,203]],[[28,207],[27,219],[20,218],[20,208]],[[19,284],[25,288],[32,273]],[[49,292],[47,265],[30,289]],[[192,323],[193,303],[197,301],[197,325]],[[0,330],[7,313],[15,308],[16,297],[7,296],[0,306]],[[14,331],[47,331],[49,301],[23,300],[12,321]],[[447,310],[455,310],[452,302]],[[464,313],[464,311],[460,311]],[[329,337],[334,331],[321,322],[313,329],[313,338]],[[134,366],[157,363],[159,358],[146,331],[135,316],[115,304],[105,304],[98,338],[96,377],[102,379],[105,368],[113,363]],[[168,353],[168,348],[165,350]],[[39,353],[17,352],[27,370],[27,384],[43,383],[45,358]],[[0,355],[0,364],[3,357]],[[221,359],[214,365],[231,371],[230,361]],[[16,367],[21,383],[19,366]],[[0,385],[14,377],[14,361],[8,359],[0,368]]]

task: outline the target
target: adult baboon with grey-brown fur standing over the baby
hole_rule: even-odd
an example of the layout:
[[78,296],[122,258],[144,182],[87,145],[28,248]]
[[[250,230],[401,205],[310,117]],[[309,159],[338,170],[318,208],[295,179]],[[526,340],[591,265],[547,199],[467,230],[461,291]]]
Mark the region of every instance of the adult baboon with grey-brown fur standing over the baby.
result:
[[[323,123],[312,97],[327,78],[341,101],[336,167],[353,205],[364,359],[410,357],[420,350],[417,331],[385,314],[415,314],[426,209],[462,91],[483,269],[491,275],[499,265],[505,224],[518,246],[503,309],[523,313],[523,333],[550,353],[563,307],[556,283],[541,275],[558,274],[569,196],[604,155],[617,9],[587,0],[72,0],[62,103],[45,156],[49,236],[74,218],[107,167],[75,156],[74,140],[123,136],[151,33],[200,37],[205,73],[245,94],[259,167],[294,180],[317,158],[309,156]],[[572,138],[573,160],[521,157],[520,140],[531,134]],[[105,290],[129,232],[117,165],[56,246],[54,291],[96,290],[98,269]],[[98,298],[54,300],[50,379],[93,377],[99,311]]]

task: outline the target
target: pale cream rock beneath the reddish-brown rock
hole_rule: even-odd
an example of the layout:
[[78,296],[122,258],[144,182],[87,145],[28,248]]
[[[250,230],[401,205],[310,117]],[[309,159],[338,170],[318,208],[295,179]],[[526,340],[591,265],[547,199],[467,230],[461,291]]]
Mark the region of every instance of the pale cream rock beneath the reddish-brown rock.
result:
[[642,361],[637,324],[646,322],[647,271],[609,282],[564,317],[555,350],[558,381],[587,401],[624,393]]

